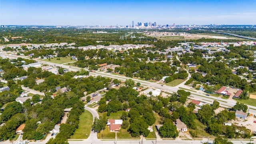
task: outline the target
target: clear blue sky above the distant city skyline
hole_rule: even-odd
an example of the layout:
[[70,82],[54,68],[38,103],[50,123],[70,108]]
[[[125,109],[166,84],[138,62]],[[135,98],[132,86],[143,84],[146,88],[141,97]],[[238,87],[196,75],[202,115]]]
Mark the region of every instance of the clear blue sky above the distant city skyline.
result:
[[0,25],[256,24],[256,0],[0,0]]

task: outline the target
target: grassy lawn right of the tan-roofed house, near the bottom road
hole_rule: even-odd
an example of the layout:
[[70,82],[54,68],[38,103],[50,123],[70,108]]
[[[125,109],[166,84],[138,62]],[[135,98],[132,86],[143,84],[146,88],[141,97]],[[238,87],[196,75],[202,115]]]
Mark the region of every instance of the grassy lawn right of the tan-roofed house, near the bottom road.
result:
[[190,132],[194,133],[194,138],[205,138],[205,137],[214,138],[214,136],[208,134],[204,130],[206,128],[204,124],[199,122],[197,119],[195,120],[195,123],[196,123],[196,130],[190,129]]

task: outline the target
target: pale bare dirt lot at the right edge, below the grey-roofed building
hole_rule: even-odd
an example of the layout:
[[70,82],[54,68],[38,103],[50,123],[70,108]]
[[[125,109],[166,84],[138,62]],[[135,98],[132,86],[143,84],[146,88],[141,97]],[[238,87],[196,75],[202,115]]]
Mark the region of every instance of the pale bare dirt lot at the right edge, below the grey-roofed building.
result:
[[231,123],[238,126],[245,126],[247,129],[253,132],[254,130],[256,130],[256,123],[253,122],[254,120],[256,120],[256,118],[250,116],[247,117],[246,120],[242,118],[236,118],[235,120],[232,120]]

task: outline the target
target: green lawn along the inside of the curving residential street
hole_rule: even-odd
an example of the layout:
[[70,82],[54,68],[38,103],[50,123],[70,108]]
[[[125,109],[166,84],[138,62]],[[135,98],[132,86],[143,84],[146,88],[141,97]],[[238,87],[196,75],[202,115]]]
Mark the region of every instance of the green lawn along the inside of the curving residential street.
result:
[[[86,139],[90,135],[91,126],[92,126],[92,114],[85,110],[79,117],[78,129],[76,129],[73,136],[70,139]],[[86,136],[88,134],[88,136]]]

